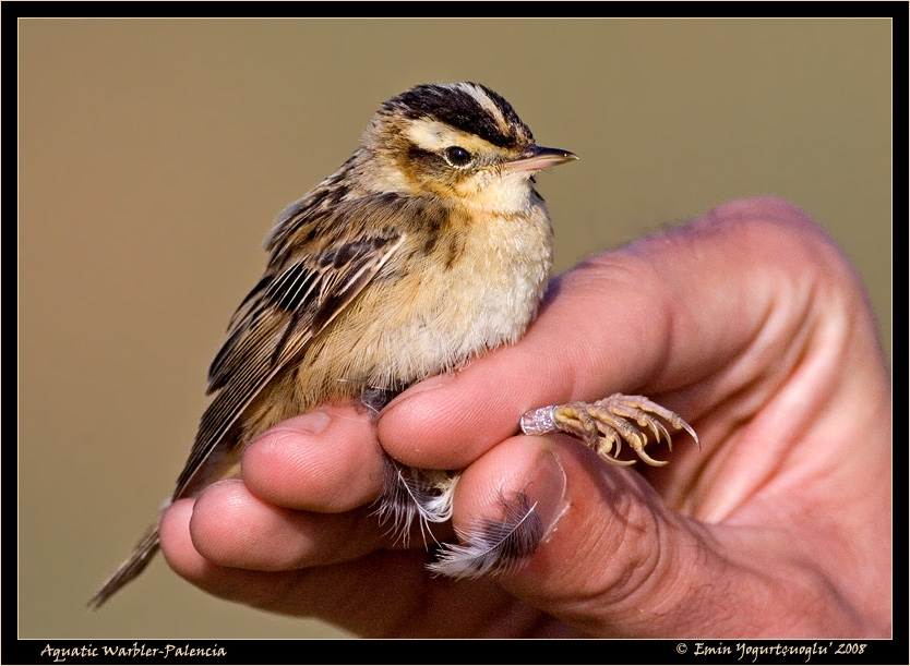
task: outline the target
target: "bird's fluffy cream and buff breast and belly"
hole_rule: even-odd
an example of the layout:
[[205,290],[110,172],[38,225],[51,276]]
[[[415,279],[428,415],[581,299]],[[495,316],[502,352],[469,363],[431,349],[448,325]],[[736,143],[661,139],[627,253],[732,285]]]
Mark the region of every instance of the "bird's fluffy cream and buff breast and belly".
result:
[[[399,390],[516,341],[537,313],[552,264],[542,202],[520,215],[463,219],[438,238],[406,238],[397,256],[320,336],[300,368],[322,393]],[[333,384],[334,383],[334,384]],[[319,392],[315,387],[306,391]]]

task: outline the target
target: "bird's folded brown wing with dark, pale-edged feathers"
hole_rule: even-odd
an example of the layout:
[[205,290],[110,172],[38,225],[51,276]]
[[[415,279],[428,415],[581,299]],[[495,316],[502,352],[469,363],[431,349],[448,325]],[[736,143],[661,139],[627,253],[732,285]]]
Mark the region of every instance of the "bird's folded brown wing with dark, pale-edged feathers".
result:
[[[354,234],[333,229],[332,219],[316,220],[311,228],[299,217],[285,220],[299,227],[298,233],[312,238],[309,243],[300,243],[301,247],[275,249],[270,270],[232,317],[227,341],[208,372],[208,392],[217,395],[202,415],[173,499],[183,496],[256,395],[347,307],[402,246],[406,234],[394,226],[370,232],[363,223],[382,204],[354,202],[330,216],[336,228],[342,223],[350,225],[349,230],[362,227],[362,232]],[[299,239],[298,233],[295,238]]]

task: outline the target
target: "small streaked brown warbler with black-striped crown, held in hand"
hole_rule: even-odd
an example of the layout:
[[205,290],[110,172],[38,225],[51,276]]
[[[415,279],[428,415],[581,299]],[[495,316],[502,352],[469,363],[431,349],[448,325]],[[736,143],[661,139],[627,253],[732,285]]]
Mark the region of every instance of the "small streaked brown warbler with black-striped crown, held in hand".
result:
[[[278,216],[265,274],[212,362],[214,398],[167,505],[238,476],[246,445],[286,419],[330,399],[379,413],[408,386],[517,341],[552,263],[535,173],[574,159],[538,146],[512,106],[477,83],[418,85],[383,104],[354,155]],[[634,462],[614,455],[626,441],[663,464],[645,446],[646,431],[670,443],[664,423],[697,443],[673,412],[619,393],[534,410],[520,428],[570,433],[615,464]],[[386,457],[376,512],[404,540],[415,522],[426,534],[451,517],[457,479]],[[430,569],[462,578],[519,564],[542,526],[522,495],[504,513],[442,544]],[[88,605],[139,576],[158,547],[156,520]]]

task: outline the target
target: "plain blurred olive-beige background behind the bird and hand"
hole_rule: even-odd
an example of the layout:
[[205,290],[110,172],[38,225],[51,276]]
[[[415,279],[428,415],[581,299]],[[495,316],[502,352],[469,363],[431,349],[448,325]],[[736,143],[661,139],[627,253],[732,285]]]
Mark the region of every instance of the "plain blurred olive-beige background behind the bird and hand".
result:
[[22,638],[342,635],[160,559],[84,603],[172,487],[272,219],[417,83],[486,83],[582,157],[539,179],[559,269],[775,194],[846,249],[890,350],[886,21],[32,20],[19,37]]

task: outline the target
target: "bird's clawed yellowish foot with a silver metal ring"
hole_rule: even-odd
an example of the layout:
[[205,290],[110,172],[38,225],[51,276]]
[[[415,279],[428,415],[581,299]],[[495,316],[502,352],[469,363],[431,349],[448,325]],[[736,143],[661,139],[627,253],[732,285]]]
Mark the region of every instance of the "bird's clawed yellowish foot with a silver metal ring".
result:
[[644,396],[613,393],[596,402],[554,404],[522,416],[522,432],[526,435],[567,433],[587,444],[601,459],[618,465],[635,462],[618,458],[623,441],[646,463],[655,467],[667,464],[666,460],[655,460],[648,456],[645,447],[650,432],[655,441],[663,439],[672,449],[668,425],[676,431],[686,431],[695,444],[701,446],[695,431],[679,414]]

